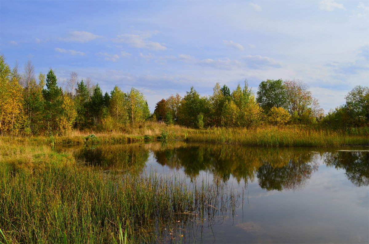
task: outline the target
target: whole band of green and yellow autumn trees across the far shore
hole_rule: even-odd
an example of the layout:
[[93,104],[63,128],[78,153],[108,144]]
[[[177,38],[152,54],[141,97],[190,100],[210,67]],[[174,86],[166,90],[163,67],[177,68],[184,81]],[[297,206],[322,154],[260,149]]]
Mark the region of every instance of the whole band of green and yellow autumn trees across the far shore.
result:
[[64,90],[52,69],[37,78],[31,61],[24,72],[13,69],[0,56],[0,135],[67,135],[71,130],[125,132],[146,121],[189,128],[250,128],[304,125],[348,130],[368,128],[369,88],[355,86],[346,103],[324,115],[306,83],[300,80],[266,80],[256,97],[247,81],[234,90],[216,83],[213,95],[201,96],[194,87],[186,95],[170,95],[156,103],[150,113],[146,98],[137,89],[124,92],[115,86],[110,93],[78,80],[70,73]]

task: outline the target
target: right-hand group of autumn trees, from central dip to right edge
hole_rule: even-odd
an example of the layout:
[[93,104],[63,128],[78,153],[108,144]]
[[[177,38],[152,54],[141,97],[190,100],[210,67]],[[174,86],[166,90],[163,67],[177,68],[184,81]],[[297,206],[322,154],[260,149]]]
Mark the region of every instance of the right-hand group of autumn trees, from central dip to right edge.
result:
[[213,95],[200,96],[191,87],[182,98],[171,95],[156,103],[154,118],[194,128],[211,126],[250,127],[261,124],[320,125],[332,129],[368,126],[369,88],[355,86],[345,99],[346,104],[324,115],[318,100],[307,84],[300,80],[266,80],[254,94],[245,80],[233,90],[219,83]]

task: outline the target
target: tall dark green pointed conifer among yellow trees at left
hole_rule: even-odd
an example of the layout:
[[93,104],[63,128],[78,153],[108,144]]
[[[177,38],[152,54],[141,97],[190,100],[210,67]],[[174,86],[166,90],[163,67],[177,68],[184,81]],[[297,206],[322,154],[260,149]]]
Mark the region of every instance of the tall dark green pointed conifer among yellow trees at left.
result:
[[46,89],[42,89],[45,105],[45,121],[49,132],[56,132],[59,129],[58,116],[62,112],[63,98],[62,88],[58,87],[58,80],[52,69],[46,75]]

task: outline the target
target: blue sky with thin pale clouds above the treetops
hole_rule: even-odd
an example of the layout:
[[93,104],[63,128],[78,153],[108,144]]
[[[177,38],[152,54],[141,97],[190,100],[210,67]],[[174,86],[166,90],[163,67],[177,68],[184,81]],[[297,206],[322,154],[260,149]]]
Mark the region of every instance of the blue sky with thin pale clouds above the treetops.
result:
[[20,72],[71,72],[156,102],[193,86],[301,80],[327,113],[369,86],[369,1],[0,1],[0,52]]

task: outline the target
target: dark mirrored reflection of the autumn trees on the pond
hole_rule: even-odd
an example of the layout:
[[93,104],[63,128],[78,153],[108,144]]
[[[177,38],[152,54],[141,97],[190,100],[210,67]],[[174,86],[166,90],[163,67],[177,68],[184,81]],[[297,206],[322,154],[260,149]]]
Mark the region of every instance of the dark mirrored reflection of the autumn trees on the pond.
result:
[[144,170],[152,156],[159,165],[183,171],[191,179],[201,172],[224,182],[233,177],[245,185],[257,178],[260,187],[268,191],[302,189],[317,171],[317,161],[323,158],[327,165],[344,169],[356,186],[369,185],[369,152],[155,142],[86,146],[74,154],[77,159],[104,170],[134,172]]

